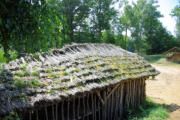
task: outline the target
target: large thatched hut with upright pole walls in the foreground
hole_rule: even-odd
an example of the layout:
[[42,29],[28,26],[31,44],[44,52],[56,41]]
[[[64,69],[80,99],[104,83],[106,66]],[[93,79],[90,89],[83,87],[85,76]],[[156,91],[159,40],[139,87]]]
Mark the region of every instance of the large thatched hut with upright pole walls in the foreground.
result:
[[142,57],[110,44],[28,55],[1,69],[0,119],[120,120],[145,101],[145,80],[157,74]]

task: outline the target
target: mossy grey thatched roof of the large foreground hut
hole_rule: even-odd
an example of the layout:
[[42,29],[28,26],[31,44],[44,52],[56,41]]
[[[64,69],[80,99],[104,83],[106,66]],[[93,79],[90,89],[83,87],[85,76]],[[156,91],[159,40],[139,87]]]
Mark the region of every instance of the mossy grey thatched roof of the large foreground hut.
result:
[[0,116],[157,74],[142,57],[110,44],[73,44],[28,55],[1,68]]

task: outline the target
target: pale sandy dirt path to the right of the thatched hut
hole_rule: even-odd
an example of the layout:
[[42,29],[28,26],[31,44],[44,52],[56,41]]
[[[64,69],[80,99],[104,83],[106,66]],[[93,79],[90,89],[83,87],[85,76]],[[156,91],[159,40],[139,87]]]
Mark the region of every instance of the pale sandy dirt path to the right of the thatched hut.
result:
[[180,66],[153,66],[161,74],[147,81],[147,96],[165,104],[170,112],[169,120],[180,120]]

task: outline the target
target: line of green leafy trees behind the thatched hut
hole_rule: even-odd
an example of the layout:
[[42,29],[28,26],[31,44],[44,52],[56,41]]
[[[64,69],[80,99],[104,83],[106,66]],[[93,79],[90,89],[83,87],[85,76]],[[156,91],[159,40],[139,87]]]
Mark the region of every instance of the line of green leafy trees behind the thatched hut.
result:
[[157,8],[156,0],[1,0],[0,45],[8,59],[11,51],[21,56],[71,42],[159,54],[180,46],[180,11],[179,6],[172,11],[173,36],[159,21],[163,16]]

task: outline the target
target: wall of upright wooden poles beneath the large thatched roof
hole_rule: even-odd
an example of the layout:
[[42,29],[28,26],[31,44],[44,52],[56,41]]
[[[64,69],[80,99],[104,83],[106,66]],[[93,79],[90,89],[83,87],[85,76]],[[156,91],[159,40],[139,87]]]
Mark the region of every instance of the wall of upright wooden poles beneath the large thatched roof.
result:
[[[114,87],[73,96],[71,97],[72,99],[68,98],[68,100],[61,101],[61,103],[46,105],[46,107],[43,108],[45,110],[44,119],[122,119],[124,110],[136,108],[145,101],[145,80],[146,78],[142,78],[129,82],[121,82]],[[58,109],[58,105],[61,106],[61,109]],[[29,119],[35,118],[38,120],[38,110],[32,113],[29,113]]]

